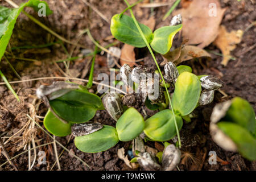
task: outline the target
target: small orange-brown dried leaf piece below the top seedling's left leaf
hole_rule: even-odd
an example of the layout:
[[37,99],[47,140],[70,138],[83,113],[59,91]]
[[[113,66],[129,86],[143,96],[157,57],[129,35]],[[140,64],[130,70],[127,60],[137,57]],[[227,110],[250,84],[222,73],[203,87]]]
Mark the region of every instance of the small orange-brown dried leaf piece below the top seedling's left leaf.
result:
[[[129,62],[124,61],[122,59],[129,60]],[[121,49],[121,59],[120,59],[121,66],[124,64],[128,64],[130,67],[133,67],[135,64],[135,61],[136,59],[135,59],[134,46],[124,44]]]

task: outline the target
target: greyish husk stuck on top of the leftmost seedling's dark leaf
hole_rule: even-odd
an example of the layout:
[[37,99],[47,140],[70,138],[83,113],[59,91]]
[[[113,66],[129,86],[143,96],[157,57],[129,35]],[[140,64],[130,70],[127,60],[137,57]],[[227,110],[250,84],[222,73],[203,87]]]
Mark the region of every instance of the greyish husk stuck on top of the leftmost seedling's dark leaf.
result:
[[36,96],[40,99],[46,96],[48,100],[51,101],[75,89],[79,89],[79,85],[65,81],[55,81],[52,85],[40,85],[39,88],[36,89]]

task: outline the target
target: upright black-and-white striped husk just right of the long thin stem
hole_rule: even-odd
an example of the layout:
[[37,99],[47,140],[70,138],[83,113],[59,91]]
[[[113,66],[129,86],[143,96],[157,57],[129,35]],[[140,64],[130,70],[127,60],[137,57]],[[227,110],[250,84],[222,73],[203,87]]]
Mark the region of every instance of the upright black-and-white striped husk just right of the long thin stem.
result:
[[166,81],[175,84],[177,77],[179,76],[179,72],[177,71],[175,64],[171,61],[166,63],[164,66],[164,73],[166,73],[166,75],[164,75]]

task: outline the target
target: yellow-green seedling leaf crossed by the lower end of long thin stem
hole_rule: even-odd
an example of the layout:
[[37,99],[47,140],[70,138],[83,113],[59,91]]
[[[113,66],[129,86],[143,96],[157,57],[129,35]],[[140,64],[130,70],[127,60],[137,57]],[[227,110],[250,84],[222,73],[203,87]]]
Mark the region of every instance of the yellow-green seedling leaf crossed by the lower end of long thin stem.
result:
[[[183,125],[182,118],[175,115],[179,130]],[[176,128],[174,123],[174,115],[170,109],[162,110],[159,113],[152,115],[146,121],[144,133],[148,138],[154,141],[167,141],[175,137]]]

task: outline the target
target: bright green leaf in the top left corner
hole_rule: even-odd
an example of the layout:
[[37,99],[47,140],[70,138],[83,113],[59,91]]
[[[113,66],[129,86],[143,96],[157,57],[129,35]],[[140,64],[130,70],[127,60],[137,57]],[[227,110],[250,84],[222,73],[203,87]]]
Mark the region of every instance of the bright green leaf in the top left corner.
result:
[[35,11],[38,11],[40,9],[38,8],[39,3],[44,3],[46,5],[46,15],[52,13],[47,3],[39,0],[30,0],[27,3],[22,3],[22,5],[16,9],[7,9],[6,7],[0,6],[0,61],[5,53],[11,34],[13,34],[13,28],[20,12],[25,6],[30,6],[34,8]]

